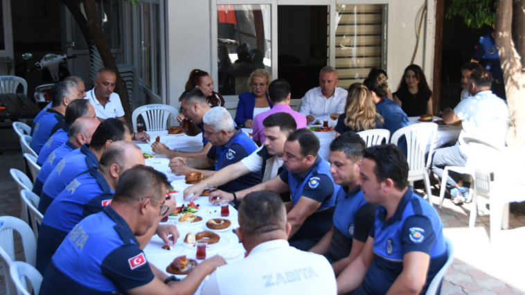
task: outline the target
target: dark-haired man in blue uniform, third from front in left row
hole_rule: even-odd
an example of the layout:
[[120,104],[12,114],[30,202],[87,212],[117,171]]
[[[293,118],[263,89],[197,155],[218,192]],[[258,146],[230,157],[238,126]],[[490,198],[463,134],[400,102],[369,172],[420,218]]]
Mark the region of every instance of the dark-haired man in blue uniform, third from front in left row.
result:
[[53,199],[62,193],[62,190],[71,184],[80,172],[86,171],[91,166],[97,168],[98,159],[108,145],[114,141],[131,141],[132,130],[129,124],[116,118],[109,118],[100,123],[89,145],[84,144],[78,150],[67,154],[57,163],[55,170],[51,171],[42,188],[38,211],[44,215]]

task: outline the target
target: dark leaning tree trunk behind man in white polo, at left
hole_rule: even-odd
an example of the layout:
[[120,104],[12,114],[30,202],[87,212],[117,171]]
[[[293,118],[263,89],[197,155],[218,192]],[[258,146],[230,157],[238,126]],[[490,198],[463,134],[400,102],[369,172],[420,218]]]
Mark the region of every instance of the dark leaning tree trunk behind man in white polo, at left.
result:
[[93,42],[96,48],[98,48],[98,52],[100,53],[100,57],[102,57],[104,66],[113,69],[113,71],[116,73],[116,87],[114,92],[121,97],[122,107],[124,108],[125,114],[124,118],[126,119],[126,122],[131,123],[132,113],[130,107],[130,98],[127,96],[126,83],[124,80],[122,80],[121,73],[118,72],[112,51],[109,48],[109,44],[107,44],[106,38],[102,33],[102,29],[100,29],[100,22],[98,21],[95,0],[84,0],[84,10],[86,10],[87,28],[93,37]]

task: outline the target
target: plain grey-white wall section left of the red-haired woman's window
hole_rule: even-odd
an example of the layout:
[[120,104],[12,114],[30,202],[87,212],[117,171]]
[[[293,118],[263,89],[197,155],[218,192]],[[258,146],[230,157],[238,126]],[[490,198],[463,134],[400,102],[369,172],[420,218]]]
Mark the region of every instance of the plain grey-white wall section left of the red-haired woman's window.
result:
[[210,0],[166,1],[168,6],[168,98],[178,107],[190,71],[211,71]]

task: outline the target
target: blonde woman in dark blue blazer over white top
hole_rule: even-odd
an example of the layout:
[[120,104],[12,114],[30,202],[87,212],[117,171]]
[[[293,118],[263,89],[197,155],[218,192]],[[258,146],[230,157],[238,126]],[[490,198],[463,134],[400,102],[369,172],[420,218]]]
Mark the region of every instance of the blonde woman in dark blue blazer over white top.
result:
[[269,100],[268,85],[272,76],[265,69],[256,69],[248,78],[250,92],[241,93],[235,114],[235,123],[247,128],[253,128],[253,118],[258,114],[272,109],[274,105]]

